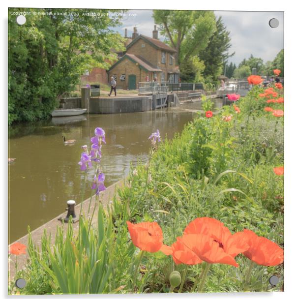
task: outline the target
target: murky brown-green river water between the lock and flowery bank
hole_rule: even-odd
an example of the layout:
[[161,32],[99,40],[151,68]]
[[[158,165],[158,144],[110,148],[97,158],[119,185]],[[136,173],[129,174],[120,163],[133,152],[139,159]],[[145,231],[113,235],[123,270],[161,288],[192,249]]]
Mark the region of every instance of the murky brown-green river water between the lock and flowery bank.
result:
[[[217,99],[216,106],[221,105]],[[163,139],[171,139],[200,108],[200,102],[194,102],[151,112],[52,118],[10,127],[8,157],[16,159],[8,167],[8,242],[26,235],[28,225],[34,230],[64,212],[67,200],[81,201],[85,173],[77,162],[81,146],[90,146],[95,127],[106,132],[101,168],[109,186],[128,174],[130,163],[147,160],[152,132],[159,129]],[[64,145],[62,136],[76,143]],[[90,171],[84,199],[91,194],[92,177]]]

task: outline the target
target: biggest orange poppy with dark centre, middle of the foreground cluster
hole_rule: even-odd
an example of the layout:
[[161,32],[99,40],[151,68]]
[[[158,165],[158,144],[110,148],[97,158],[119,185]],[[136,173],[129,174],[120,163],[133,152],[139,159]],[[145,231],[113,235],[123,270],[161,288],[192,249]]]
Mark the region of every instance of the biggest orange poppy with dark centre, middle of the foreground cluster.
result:
[[[214,218],[202,217],[191,221],[185,228],[182,239],[185,245],[192,249],[191,244],[188,242],[190,238],[185,236],[200,234],[207,235],[213,239],[213,243],[207,242],[207,246],[210,246],[210,251],[205,250],[203,254],[198,254],[199,258],[208,263],[223,263],[237,267],[234,257],[248,248],[248,244],[238,233],[232,235],[222,222]],[[194,241],[200,240],[195,239]],[[202,240],[206,241],[205,239]],[[197,253],[196,249],[193,251]]]

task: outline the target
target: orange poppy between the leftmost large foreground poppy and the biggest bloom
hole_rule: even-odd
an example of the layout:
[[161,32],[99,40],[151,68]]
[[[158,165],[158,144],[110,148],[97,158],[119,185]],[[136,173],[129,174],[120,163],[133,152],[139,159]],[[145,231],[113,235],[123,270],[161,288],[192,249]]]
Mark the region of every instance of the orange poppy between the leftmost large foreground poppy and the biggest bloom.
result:
[[181,237],[178,237],[171,247],[173,260],[176,264],[195,265],[203,262],[196,253],[183,243]]

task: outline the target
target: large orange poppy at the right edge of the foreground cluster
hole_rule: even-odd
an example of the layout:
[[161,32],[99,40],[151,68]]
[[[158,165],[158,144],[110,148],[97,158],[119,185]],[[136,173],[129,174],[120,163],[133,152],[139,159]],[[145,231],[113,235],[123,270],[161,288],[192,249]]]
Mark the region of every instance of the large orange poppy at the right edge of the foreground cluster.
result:
[[248,259],[264,266],[276,266],[284,261],[284,250],[276,243],[265,237],[258,237],[248,229],[240,234],[249,244],[249,248],[243,253]]

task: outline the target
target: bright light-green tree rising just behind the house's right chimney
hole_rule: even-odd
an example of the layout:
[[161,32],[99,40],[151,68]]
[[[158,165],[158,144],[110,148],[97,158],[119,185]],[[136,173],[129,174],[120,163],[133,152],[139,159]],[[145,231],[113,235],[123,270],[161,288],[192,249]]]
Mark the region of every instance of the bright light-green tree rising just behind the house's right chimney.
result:
[[198,56],[216,30],[215,15],[210,11],[154,10],[153,18],[160,33],[177,51],[179,65]]

